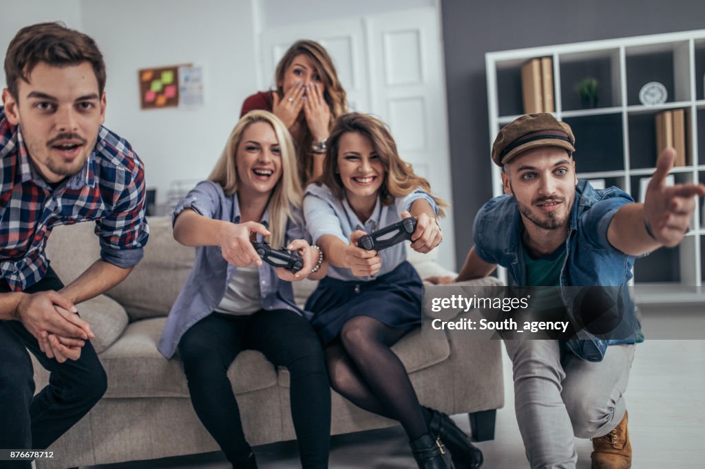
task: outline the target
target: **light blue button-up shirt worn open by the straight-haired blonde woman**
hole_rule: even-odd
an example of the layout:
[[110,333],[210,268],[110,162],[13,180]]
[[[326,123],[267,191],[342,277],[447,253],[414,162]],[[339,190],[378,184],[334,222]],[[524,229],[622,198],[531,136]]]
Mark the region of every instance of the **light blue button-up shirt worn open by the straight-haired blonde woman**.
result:
[[[213,181],[199,182],[173,211],[173,220],[179,213],[190,208],[200,215],[215,220],[240,223],[238,194],[226,196],[223,188]],[[286,242],[310,237],[303,229],[303,216],[293,208],[293,218],[286,225]],[[260,223],[267,226],[269,209],[264,211]],[[262,235],[257,235],[262,240]],[[286,243],[285,243],[286,245]],[[205,318],[218,306],[225,296],[226,288],[238,268],[223,259],[220,246],[200,246],[196,248],[196,258],[186,283],[171,307],[164,332],[159,341],[159,351],[171,358],[183,334],[195,323]],[[259,267],[259,290],[262,293],[263,309],[288,309],[305,315],[294,301],[291,282],[276,276],[274,267],[262,263]],[[254,286],[253,286],[254,287]],[[306,314],[309,317],[309,314]]]

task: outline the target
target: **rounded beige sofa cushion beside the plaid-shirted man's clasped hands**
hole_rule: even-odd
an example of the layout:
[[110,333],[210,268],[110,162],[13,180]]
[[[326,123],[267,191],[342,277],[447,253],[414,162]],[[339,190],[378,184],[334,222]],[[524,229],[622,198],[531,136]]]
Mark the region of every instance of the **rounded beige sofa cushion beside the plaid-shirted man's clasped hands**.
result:
[[99,354],[111,346],[127,327],[129,318],[125,308],[105,295],[96,296],[78,305],[81,319],[90,324],[95,338],[91,344]]

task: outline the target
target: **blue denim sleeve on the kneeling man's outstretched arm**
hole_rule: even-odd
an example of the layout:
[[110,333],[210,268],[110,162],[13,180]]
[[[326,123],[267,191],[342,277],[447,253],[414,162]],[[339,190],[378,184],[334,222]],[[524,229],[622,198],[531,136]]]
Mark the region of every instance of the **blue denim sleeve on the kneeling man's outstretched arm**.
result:
[[[581,203],[589,199],[589,197],[583,197]],[[621,207],[633,202],[632,196],[617,187],[594,191],[593,201],[578,220],[581,242],[587,242],[593,249],[617,251],[607,239],[607,230],[615,213]]]

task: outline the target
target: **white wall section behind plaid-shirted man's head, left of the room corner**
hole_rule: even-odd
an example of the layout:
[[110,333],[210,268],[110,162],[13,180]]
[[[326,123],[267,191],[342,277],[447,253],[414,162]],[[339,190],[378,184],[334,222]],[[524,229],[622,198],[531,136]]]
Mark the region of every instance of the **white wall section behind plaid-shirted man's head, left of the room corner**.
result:
[[[0,63],[5,63],[7,46],[22,27],[44,21],[63,21],[66,26],[80,30],[80,0],[0,0]],[[6,86],[3,69],[0,87]]]

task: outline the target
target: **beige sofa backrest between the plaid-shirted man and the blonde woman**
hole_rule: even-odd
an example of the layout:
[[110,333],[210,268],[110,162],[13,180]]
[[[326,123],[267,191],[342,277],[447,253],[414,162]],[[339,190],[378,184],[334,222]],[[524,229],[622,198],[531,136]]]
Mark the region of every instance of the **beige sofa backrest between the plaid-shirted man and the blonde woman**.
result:
[[[171,234],[171,217],[148,217],[145,257],[124,282],[107,292],[120,303],[130,321],[165,316],[193,265],[195,250],[178,244]],[[51,267],[64,283],[78,277],[100,256],[94,223],[58,226],[49,236]]]

